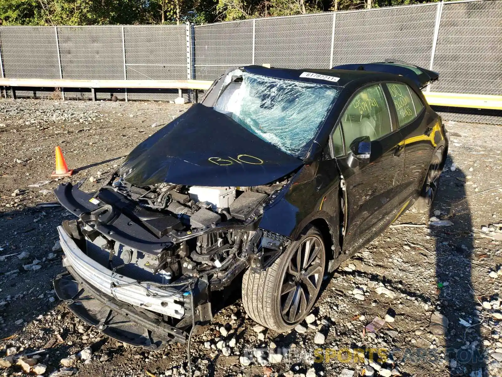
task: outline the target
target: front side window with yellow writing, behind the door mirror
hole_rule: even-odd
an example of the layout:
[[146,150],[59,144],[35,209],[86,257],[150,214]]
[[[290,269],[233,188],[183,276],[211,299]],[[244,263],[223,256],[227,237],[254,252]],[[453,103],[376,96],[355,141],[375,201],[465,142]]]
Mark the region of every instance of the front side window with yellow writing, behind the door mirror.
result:
[[373,141],[391,133],[391,116],[382,87],[373,85],[362,89],[345,110],[341,125],[347,149],[360,136],[369,136]]

